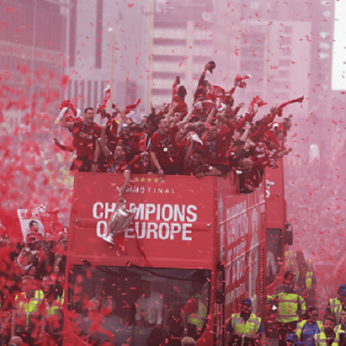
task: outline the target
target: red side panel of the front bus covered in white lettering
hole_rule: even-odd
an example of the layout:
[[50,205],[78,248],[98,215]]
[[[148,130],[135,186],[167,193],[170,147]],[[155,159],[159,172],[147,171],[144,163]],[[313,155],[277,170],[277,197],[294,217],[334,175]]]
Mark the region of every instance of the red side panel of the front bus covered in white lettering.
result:
[[[263,304],[266,246],[264,183],[250,194],[237,193],[233,181],[218,187],[219,260],[225,270],[224,317],[239,311],[244,298],[253,300],[253,312]],[[225,327],[226,327],[225,325]]]

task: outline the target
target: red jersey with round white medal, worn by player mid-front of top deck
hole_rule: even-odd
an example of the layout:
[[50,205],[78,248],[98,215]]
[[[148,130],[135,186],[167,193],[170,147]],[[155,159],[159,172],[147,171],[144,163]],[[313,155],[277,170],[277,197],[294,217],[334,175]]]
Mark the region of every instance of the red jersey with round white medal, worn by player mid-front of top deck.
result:
[[155,152],[158,162],[163,167],[176,165],[178,153],[178,146],[176,145],[175,134],[179,131],[178,127],[174,125],[170,127],[167,134],[161,134],[160,131],[156,131],[152,135],[150,143],[150,150]]

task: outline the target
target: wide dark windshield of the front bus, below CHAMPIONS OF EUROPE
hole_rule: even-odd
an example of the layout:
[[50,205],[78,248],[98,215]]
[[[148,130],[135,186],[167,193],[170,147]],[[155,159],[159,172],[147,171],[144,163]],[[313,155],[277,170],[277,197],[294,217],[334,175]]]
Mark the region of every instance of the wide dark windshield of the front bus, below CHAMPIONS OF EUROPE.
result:
[[200,295],[209,311],[210,278],[206,270],[75,265],[69,271],[70,320],[88,341],[145,346],[160,329],[173,336],[168,345],[176,345],[188,300]]

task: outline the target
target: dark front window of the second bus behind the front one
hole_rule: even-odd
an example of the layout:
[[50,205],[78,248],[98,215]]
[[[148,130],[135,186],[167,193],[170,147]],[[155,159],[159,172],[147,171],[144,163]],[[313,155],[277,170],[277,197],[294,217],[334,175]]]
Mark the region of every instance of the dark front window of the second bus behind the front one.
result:
[[271,284],[282,265],[282,229],[267,228],[266,283]]

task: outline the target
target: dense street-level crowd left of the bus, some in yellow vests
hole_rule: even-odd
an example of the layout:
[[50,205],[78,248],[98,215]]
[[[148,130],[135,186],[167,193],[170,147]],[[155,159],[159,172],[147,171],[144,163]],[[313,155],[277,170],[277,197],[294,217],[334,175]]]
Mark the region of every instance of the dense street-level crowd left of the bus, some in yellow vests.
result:
[[0,345],[62,345],[66,237],[25,240],[0,241]]

